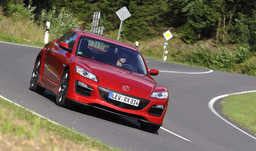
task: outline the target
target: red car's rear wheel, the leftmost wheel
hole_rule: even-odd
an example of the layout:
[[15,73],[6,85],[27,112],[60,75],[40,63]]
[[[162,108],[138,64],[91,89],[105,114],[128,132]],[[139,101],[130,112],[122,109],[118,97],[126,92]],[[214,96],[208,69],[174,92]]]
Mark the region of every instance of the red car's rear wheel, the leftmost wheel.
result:
[[45,88],[37,84],[38,78],[40,76],[40,69],[41,69],[41,58],[39,58],[35,63],[32,76],[30,79],[30,85],[29,85],[29,89],[37,93],[43,93],[45,91]]

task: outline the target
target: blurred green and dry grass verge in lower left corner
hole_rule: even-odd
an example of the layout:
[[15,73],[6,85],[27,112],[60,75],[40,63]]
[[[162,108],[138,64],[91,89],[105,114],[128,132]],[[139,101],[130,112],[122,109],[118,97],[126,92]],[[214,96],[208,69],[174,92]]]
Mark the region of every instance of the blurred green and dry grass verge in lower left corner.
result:
[[0,98],[0,150],[119,150]]

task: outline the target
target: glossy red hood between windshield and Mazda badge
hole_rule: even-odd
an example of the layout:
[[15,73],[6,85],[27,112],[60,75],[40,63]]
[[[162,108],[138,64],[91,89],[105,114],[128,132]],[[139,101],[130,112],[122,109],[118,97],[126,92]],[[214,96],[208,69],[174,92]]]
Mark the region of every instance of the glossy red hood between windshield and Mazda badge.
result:
[[83,57],[79,57],[79,60],[93,71],[99,82],[101,79],[107,79],[114,83],[117,82],[122,85],[136,87],[149,92],[153,92],[156,87],[156,82],[149,76]]

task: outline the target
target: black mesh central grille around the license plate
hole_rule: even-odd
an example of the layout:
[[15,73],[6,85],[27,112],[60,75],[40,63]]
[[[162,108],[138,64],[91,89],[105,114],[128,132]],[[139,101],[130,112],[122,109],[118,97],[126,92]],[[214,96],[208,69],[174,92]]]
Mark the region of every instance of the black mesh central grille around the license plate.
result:
[[116,100],[113,100],[113,99],[109,99],[108,98],[109,91],[110,91],[109,89],[106,89],[106,88],[103,88],[103,87],[98,87],[98,90],[99,90],[99,95],[100,95],[101,99],[103,99],[104,101],[106,101],[106,102],[108,102],[112,105],[115,105],[119,108],[122,108],[122,109],[142,110],[150,103],[149,100],[142,99],[142,98],[137,98],[137,97],[134,97],[134,96],[130,96],[130,95],[127,95],[127,94],[124,94],[124,93],[121,93],[121,92],[111,90],[113,92],[116,92],[116,93],[119,93],[119,94],[122,94],[122,95],[125,95],[125,96],[129,96],[129,97],[132,97],[132,98],[139,99],[140,100],[139,106],[136,107],[136,106],[133,106],[133,105],[130,105],[130,104],[126,104],[126,103],[122,103],[122,102],[119,102],[119,101],[116,101]]

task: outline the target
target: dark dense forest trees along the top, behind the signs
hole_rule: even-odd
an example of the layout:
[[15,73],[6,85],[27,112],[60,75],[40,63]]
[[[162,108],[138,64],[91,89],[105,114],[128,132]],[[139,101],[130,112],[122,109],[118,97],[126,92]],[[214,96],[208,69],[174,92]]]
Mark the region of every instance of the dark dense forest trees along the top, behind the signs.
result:
[[[71,16],[82,29],[90,29],[92,15],[101,12],[100,26],[105,31],[119,28],[116,11],[126,6],[132,14],[122,26],[122,35],[132,41],[159,36],[173,27],[186,43],[215,38],[222,43],[256,44],[255,0],[0,0],[6,15],[10,3],[34,7],[35,19],[45,22],[58,13]],[[14,9],[14,8],[13,8]],[[40,17],[41,16],[41,17]],[[66,18],[68,19],[68,18]],[[70,27],[72,27],[70,25]]]

